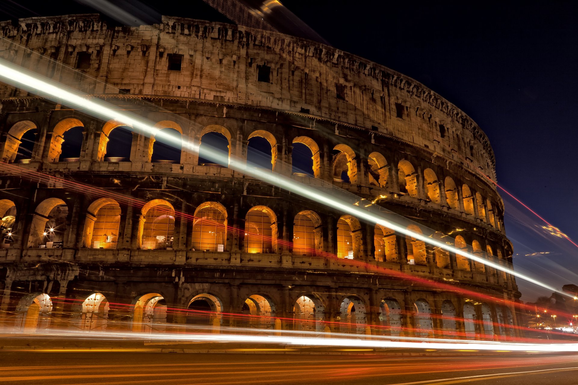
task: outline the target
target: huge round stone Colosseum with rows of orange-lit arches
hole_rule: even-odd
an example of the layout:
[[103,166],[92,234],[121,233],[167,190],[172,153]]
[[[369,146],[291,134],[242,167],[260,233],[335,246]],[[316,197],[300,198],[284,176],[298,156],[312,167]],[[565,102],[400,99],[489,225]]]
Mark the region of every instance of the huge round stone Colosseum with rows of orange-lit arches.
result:
[[5,324],[520,335],[513,276],[203,156],[337,186],[512,266],[490,143],[424,85],[313,41],[188,18],[114,27],[78,14],[0,28],[3,61],[199,149],[0,84]]

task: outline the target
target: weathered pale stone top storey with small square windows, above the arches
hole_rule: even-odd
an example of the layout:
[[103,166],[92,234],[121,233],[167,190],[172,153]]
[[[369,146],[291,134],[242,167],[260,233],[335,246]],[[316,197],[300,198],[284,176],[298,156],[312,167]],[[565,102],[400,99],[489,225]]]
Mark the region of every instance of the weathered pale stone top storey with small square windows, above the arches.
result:
[[[377,63],[309,40],[186,18],[160,25],[110,27],[98,14],[0,22],[0,57],[62,79],[15,43],[72,67],[90,53],[83,72],[125,92],[217,100],[295,111],[362,126],[443,154],[495,178],[486,135],[460,109],[423,84]],[[169,70],[171,54],[181,70]],[[85,55],[86,57],[86,55]],[[264,80],[266,70],[269,76]],[[261,70],[261,79],[259,73]],[[95,94],[117,93],[83,84]],[[16,96],[0,88],[0,98]]]

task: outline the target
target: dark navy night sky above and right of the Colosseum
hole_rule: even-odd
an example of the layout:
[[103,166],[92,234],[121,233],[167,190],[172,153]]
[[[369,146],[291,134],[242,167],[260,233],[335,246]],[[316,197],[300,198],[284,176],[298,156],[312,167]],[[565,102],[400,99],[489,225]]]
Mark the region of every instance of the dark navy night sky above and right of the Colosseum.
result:
[[[21,3],[27,9],[3,2],[0,19],[95,12],[71,1]],[[149,23],[158,14],[226,21],[201,0],[144,3],[151,9],[139,17]],[[413,77],[465,111],[490,139],[498,183],[578,240],[576,2],[283,3],[333,46]],[[578,246],[502,196],[515,266],[558,287],[578,285]],[[523,300],[549,294],[517,282]]]

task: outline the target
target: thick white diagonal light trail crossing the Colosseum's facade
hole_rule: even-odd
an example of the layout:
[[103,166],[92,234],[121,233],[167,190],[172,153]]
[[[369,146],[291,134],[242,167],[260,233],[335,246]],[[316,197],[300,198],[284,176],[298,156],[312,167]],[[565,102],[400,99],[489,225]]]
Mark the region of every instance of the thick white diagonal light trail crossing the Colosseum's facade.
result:
[[[71,88],[65,89],[54,81],[51,81],[47,78],[42,79],[42,77],[38,76],[38,74],[34,74],[34,76],[32,74],[32,72],[25,72],[23,69],[16,68],[16,66],[5,60],[0,60],[0,77],[7,84],[27,89],[30,92],[34,92],[35,94],[41,95],[46,99],[53,100],[57,103],[62,103],[68,106],[74,106],[77,109],[85,110],[87,113],[94,115],[95,117],[99,117],[105,120],[122,122],[124,125],[131,126],[132,128],[147,134],[148,136],[156,137],[165,143],[171,143],[174,147],[182,145],[188,151],[195,153],[198,153],[199,151],[198,144],[192,143],[188,140],[183,140],[182,143],[176,143],[177,141],[174,137],[172,137],[170,134],[162,132],[162,130],[157,130],[155,125],[146,119],[140,118],[125,111],[118,111],[111,104],[103,102],[102,100],[89,99],[88,95],[86,94],[82,94],[81,92],[75,91]],[[538,279],[532,278],[531,276],[517,272],[502,266],[501,264],[494,263],[472,253],[465,252],[464,250],[459,249],[451,244],[447,244],[447,242],[440,241],[425,234],[410,230],[406,226],[402,226],[399,225],[398,222],[394,222],[394,220],[387,220],[383,217],[383,215],[386,213],[383,212],[383,209],[378,211],[379,207],[376,207],[376,205],[369,205],[369,207],[363,208],[357,207],[355,203],[359,204],[361,199],[349,192],[346,192],[345,190],[336,189],[334,186],[329,185],[331,186],[332,192],[332,195],[330,195],[328,190],[318,190],[312,186],[308,186],[300,182],[295,182],[291,178],[288,178],[284,175],[264,169],[259,169],[257,167],[251,167],[251,165],[247,164],[246,161],[243,159],[237,159],[235,156],[229,157],[228,154],[220,154],[217,151],[209,152],[208,155],[213,158],[213,161],[216,161],[217,163],[228,164],[231,169],[238,170],[246,175],[250,175],[262,181],[266,181],[269,184],[286,189],[299,196],[317,201],[318,203],[327,205],[328,207],[342,212],[346,212],[347,214],[357,216],[357,218],[365,220],[366,222],[377,223],[381,226],[388,227],[394,231],[398,231],[398,233],[405,234],[434,246],[438,246],[439,248],[442,248],[446,251],[464,256],[473,261],[477,261],[478,263],[495,268],[496,270],[507,272],[508,274],[512,274],[517,278],[521,278],[525,281],[541,286],[544,289],[555,291],[564,296],[573,297],[565,291],[557,289],[556,287],[548,285],[547,283],[541,282]],[[406,218],[394,214],[393,212],[387,212],[387,215],[394,216],[395,219],[399,219],[402,222],[407,221]]]

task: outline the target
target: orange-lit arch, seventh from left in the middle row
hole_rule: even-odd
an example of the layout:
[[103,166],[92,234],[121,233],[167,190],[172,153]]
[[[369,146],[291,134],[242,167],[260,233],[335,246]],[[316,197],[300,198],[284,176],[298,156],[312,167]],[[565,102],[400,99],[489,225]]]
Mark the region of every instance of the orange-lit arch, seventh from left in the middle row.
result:
[[301,211],[293,222],[293,254],[314,255],[323,245],[321,218],[313,211]]

